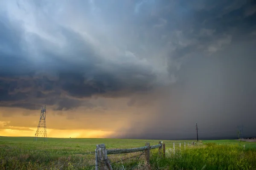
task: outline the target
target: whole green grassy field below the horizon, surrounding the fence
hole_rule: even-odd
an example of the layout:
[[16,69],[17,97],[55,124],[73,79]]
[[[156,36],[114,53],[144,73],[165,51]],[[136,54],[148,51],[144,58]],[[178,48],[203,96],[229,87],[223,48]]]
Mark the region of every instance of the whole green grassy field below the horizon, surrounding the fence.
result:
[[[113,149],[141,147],[145,142],[158,144],[158,140],[48,138],[44,142],[30,137],[0,137],[0,170],[93,170],[96,144],[105,143],[107,149]],[[191,141],[186,141],[186,146],[185,141],[163,142],[166,158],[160,158],[157,149],[151,150],[152,170],[256,170],[256,142],[203,141],[193,147],[187,146]],[[109,158],[113,169],[150,169],[140,155],[128,153]]]

